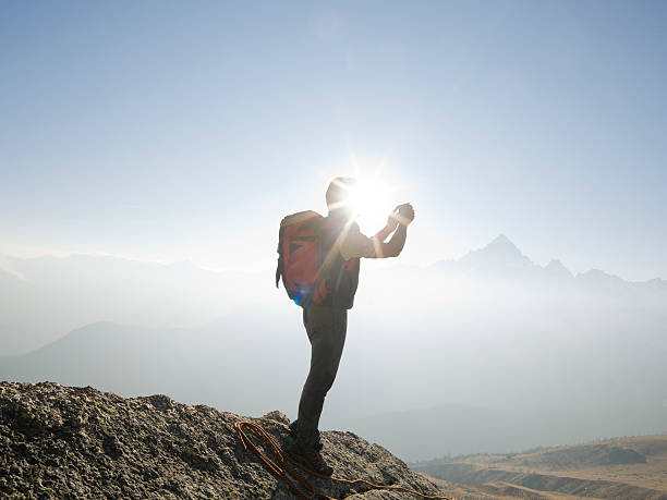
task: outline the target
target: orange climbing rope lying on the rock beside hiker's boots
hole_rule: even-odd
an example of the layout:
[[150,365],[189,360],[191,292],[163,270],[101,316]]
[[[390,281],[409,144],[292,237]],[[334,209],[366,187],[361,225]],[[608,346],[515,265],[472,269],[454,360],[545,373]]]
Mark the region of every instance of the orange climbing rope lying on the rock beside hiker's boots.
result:
[[[450,497],[441,497],[441,496],[429,496],[420,493],[413,489],[403,488],[402,486],[383,486],[376,485],[374,483],[367,481],[366,479],[343,479],[341,477],[333,476],[324,476],[322,474],[316,473],[315,471],[310,471],[305,468],[303,465],[294,462],[292,458],[288,454],[283,453],[278,442],[274,439],[271,435],[269,435],[264,427],[255,422],[250,420],[238,420],[234,423],[234,427],[237,428],[237,432],[239,434],[239,439],[243,443],[243,448],[246,450],[250,448],[258,458],[266,464],[266,466],[278,477],[280,477],[292,490],[292,492],[301,498],[301,499],[326,499],[326,500],[335,500],[331,497],[326,495],[322,495],[315,491],[311,483],[301,474],[299,471],[295,471],[292,466],[288,464],[292,462],[298,465],[305,473],[311,474],[316,477],[320,477],[323,479],[330,479],[337,483],[342,483],[347,485],[366,485],[373,489],[390,489],[396,491],[404,491],[407,493],[416,495],[417,497],[424,499],[437,499],[437,500],[453,500]],[[271,460],[265,452],[263,452],[245,434],[244,429],[251,429],[255,435],[257,435],[262,441],[264,442],[265,449],[267,449],[276,459],[276,461]],[[291,477],[290,477],[291,476]],[[294,480],[292,479],[294,478]],[[298,486],[299,484],[300,486]]]

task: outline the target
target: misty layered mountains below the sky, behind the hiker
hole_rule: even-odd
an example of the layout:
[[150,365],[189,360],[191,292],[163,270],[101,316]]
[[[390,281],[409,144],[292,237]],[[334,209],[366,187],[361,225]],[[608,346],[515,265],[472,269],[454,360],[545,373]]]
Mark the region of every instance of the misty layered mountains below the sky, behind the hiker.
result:
[[[0,379],[295,416],[310,345],[271,272],[94,255],[1,269]],[[537,266],[504,235],[362,269],[323,424],[411,461],[663,432],[666,319],[667,282]]]

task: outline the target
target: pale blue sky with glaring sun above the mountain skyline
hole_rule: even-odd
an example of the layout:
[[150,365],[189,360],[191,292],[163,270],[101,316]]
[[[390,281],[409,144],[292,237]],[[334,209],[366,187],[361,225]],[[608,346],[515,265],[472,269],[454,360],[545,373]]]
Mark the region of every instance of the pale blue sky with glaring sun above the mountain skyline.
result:
[[405,261],[502,232],[667,278],[666,34],[662,1],[3,1],[0,253],[268,269],[356,157],[415,205]]

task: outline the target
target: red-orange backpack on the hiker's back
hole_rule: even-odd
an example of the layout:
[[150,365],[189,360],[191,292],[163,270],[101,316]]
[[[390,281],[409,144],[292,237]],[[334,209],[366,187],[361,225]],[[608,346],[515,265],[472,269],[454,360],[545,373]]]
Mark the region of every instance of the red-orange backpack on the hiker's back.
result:
[[323,304],[331,291],[327,288],[323,264],[322,217],[307,210],[286,217],[278,235],[276,286],[282,277],[288,296],[299,306]]

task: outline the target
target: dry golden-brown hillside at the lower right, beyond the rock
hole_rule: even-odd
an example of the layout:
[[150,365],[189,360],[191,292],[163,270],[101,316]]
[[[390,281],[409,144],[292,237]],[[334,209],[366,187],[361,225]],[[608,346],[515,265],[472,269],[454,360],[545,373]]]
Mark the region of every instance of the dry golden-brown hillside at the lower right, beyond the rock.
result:
[[420,462],[463,499],[667,499],[667,435]]

